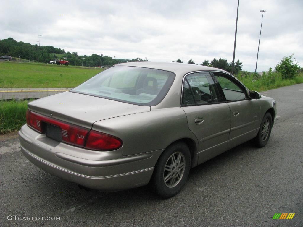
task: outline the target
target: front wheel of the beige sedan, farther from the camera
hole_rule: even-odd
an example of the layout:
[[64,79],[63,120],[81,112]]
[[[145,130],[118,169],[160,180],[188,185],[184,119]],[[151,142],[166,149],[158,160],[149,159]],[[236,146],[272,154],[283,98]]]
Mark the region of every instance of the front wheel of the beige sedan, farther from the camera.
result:
[[258,135],[255,137],[255,143],[258,147],[264,147],[270,137],[272,127],[272,117],[266,113],[262,119]]

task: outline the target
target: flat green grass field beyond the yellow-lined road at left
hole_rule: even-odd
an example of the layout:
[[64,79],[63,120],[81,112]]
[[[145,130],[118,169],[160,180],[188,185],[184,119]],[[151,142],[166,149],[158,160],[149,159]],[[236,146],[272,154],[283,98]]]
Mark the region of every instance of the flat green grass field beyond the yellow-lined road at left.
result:
[[101,71],[72,65],[0,62],[0,88],[76,87]]

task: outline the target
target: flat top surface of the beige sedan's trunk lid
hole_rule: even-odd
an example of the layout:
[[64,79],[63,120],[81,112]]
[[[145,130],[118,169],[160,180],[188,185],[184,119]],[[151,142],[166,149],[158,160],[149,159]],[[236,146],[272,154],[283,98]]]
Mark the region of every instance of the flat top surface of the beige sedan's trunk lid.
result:
[[28,109],[85,128],[99,120],[150,111],[149,106],[68,91],[32,101]]

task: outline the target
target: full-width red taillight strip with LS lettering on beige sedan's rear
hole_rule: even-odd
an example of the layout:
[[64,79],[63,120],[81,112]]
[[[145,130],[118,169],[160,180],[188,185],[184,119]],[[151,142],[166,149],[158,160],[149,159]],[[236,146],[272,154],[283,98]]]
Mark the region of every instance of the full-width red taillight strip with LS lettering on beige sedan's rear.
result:
[[39,133],[45,133],[45,123],[60,127],[63,142],[86,149],[116,150],[122,146],[122,141],[117,137],[46,117],[30,110],[26,112],[26,123]]

